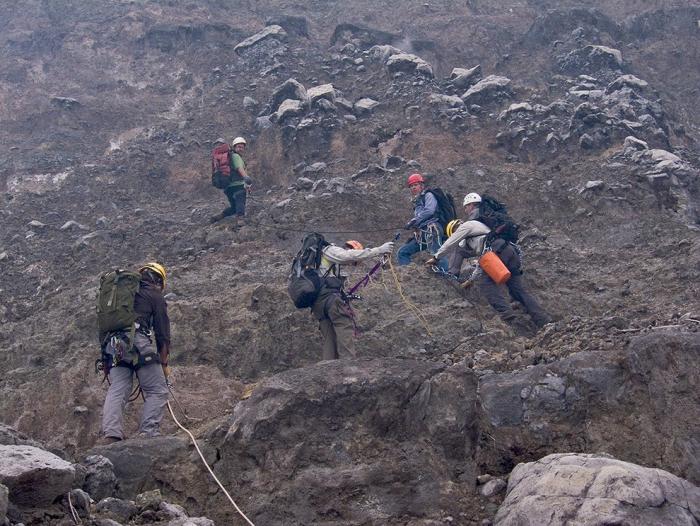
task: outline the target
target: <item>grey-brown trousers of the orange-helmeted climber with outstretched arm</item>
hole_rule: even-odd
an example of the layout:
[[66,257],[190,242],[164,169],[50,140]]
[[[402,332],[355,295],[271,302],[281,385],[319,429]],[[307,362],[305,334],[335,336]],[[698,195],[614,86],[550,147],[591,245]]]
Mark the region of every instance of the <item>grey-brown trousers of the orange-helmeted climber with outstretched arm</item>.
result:
[[355,356],[355,322],[350,307],[339,294],[317,301],[312,312],[323,336],[323,360]]

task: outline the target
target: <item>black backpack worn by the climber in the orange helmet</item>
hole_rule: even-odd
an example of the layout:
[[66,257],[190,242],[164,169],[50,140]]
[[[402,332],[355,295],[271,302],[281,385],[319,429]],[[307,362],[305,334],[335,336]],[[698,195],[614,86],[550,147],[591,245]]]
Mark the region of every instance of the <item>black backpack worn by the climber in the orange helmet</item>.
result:
[[301,242],[301,248],[292,261],[292,272],[289,276],[287,292],[297,309],[311,307],[323,286],[323,278],[319,276],[321,257],[324,247],[329,243],[321,234],[307,234]]

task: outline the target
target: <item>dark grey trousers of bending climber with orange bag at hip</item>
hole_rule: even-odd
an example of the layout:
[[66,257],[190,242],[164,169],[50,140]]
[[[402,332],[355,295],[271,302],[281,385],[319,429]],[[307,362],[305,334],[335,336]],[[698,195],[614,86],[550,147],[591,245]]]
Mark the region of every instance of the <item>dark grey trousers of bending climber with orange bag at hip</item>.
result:
[[[515,251],[512,245],[507,245],[498,254],[508,270],[511,272],[511,277],[506,281],[508,292],[515,301],[521,303],[525,310],[532,318],[532,321],[538,327],[552,321],[549,314],[540,306],[537,300],[525,290],[523,285],[522,272],[520,271],[520,256]],[[501,316],[503,321],[510,322],[515,318],[510,302],[501,294],[500,287],[486,274],[482,274],[479,280],[479,289],[486,297],[489,304]]]

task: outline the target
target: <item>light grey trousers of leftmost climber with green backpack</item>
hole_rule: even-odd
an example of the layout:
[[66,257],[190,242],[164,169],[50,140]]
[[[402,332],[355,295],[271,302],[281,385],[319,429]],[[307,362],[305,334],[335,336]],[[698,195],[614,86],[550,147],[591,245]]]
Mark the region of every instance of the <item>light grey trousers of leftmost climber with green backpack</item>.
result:
[[[134,345],[142,354],[157,352],[155,345],[141,333],[136,333]],[[128,359],[136,359],[132,350]],[[168,401],[168,386],[163,368],[159,363],[145,365],[136,371],[128,367],[112,367],[109,372],[110,386],[102,408],[102,433],[104,436],[124,438],[124,408],[133,389],[136,374],[143,390],[144,403],[139,432],[148,437],[160,434],[160,421]]]

